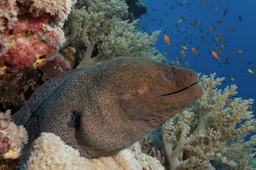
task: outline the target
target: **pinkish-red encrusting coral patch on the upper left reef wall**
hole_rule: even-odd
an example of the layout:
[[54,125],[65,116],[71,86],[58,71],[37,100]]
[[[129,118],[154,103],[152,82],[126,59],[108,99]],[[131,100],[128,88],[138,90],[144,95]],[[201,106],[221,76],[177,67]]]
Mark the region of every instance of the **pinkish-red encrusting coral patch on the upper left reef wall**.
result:
[[[49,14],[37,18],[22,15],[15,26],[5,32],[5,39],[1,40],[1,48],[3,46],[5,52],[0,56],[0,66],[23,70],[49,58],[60,43],[54,29],[44,28],[53,21]],[[37,62],[38,59],[41,59],[40,62]]]

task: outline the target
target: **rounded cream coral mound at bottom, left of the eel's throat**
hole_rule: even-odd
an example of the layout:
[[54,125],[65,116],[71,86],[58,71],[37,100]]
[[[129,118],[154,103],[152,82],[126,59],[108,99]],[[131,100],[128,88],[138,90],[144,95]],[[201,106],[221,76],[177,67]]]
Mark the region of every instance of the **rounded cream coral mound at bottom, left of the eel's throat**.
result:
[[65,145],[53,133],[41,133],[35,140],[29,160],[24,167],[35,169],[90,169],[88,161],[79,157],[79,152]]

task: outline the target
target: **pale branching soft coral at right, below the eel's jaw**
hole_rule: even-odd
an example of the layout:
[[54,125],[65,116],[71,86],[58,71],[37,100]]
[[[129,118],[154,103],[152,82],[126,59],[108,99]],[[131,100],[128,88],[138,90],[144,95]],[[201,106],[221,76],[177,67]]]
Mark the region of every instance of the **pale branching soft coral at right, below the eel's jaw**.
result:
[[210,160],[235,169],[253,168],[256,136],[245,141],[256,131],[253,112],[248,111],[253,99],[234,98],[236,85],[218,90],[216,86],[224,78],[214,77],[215,74],[202,76],[201,99],[163,125],[163,141],[172,170],[207,169]]

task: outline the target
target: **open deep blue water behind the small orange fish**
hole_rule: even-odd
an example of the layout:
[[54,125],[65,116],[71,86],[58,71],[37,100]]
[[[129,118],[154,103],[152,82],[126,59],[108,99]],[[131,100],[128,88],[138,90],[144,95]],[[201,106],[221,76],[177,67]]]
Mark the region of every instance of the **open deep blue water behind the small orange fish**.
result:
[[[173,62],[176,57],[181,59],[181,67],[191,68],[196,72],[205,75],[216,73],[216,77],[225,77],[224,82],[218,89],[224,89],[227,85],[236,84],[238,94],[236,97],[242,99],[256,99],[256,74],[251,74],[248,69],[253,66],[253,72],[256,73],[256,1],[255,0],[223,0],[223,1],[172,1],[172,0],[143,0],[148,6],[148,13],[139,18],[139,24],[144,31],[151,34],[153,31],[161,31],[155,47],[165,55],[169,62]],[[206,2],[203,5],[202,2]],[[188,5],[188,3],[190,5]],[[180,5],[182,4],[182,5]],[[219,7],[218,13],[216,7]],[[227,14],[224,17],[224,9]],[[164,16],[166,15],[166,16]],[[175,26],[178,20],[184,15],[183,21]],[[242,20],[239,20],[239,15]],[[190,25],[191,21],[196,20],[196,24]],[[201,29],[198,23],[201,21]],[[221,21],[222,24],[216,23]],[[210,27],[216,27],[214,34]],[[188,27],[186,29],[186,26]],[[234,28],[234,32],[230,28]],[[200,32],[203,31],[203,33]],[[183,33],[182,33],[182,32]],[[189,31],[185,33],[185,31]],[[213,41],[213,37],[218,35],[224,37],[220,42]],[[164,34],[170,37],[171,45],[167,45],[164,40]],[[201,36],[204,35],[205,44]],[[187,36],[187,39],[186,39]],[[181,45],[189,45],[184,50]],[[212,58],[211,51],[216,51],[224,44],[226,47],[219,54],[220,61]],[[198,48],[197,54],[191,54],[192,47]],[[209,48],[209,50],[208,50]],[[182,59],[181,50],[186,52],[187,57]],[[241,54],[234,52],[242,50]],[[225,57],[229,64],[224,65]],[[234,60],[236,58],[236,61]],[[239,63],[239,61],[243,63]],[[189,63],[189,67],[186,66]],[[247,64],[252,62],[251,64]],[[205,70],[207,67],[207,70]],[[230,81],[230,77],[234,81]],[[253,103],[255,116],[256,102]],[[250,110],[250,109],[249,109]]]

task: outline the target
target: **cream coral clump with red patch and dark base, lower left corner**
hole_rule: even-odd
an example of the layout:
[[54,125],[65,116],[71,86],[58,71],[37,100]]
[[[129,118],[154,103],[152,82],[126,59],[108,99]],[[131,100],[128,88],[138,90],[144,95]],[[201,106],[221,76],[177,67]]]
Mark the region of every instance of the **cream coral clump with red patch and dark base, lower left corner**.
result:
[[15,169],[23,144],[27,143],[27,131],[11,122],[11,111],[0,112],[0,169]]

